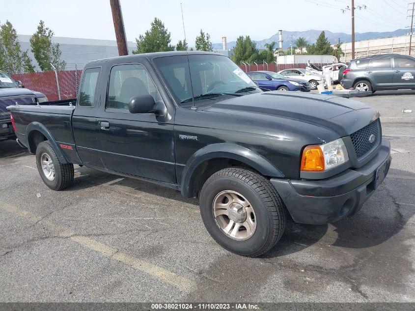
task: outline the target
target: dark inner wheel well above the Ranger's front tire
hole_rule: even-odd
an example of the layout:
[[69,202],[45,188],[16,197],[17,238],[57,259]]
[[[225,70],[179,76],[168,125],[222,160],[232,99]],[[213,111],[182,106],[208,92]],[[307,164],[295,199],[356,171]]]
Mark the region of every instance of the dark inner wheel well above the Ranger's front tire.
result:
[[249,165],[241,161],[234,160],[234,159],[215,158],[215,159],[206,160],[200,163],[192,174],[192,178],[190,179],[190,183],[189,183],[189,196],[198,197],[203,184],[206,182],[206,180],[210,176],[212,176],[217,171],[220,171],[220,170],[223,170],[229,167],[233,167],[233,166],[245,167],[249,170],[257,172],[255,169],[253,169]]

